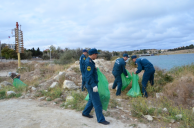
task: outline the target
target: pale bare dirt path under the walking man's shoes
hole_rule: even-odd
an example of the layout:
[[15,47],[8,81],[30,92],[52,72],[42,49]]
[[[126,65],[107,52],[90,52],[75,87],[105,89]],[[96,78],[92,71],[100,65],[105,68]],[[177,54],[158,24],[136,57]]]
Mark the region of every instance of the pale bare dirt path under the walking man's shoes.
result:
[[[124,128],[116,119],[106,117],[108,126],[97,123],[96,118],[88,119],[81,112],[60,109],[46,105],[46,102],[27,99],[0,100],[0,128]],[[138,127],[147,128],[140,124]]]

